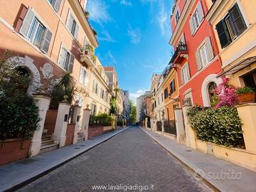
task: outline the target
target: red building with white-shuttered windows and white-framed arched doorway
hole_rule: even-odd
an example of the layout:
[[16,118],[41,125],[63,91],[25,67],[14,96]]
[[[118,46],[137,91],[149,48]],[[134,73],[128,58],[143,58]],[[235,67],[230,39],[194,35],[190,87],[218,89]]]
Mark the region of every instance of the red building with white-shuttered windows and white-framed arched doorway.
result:
[[173,35],[169,44],[174,46],[170,65],[178,75],[181,105],[185,102],[210,106],[216,78],[222,73],[218,46],[213,27],[206,21],[208,6],[205,0],[177,0],[171,15]]

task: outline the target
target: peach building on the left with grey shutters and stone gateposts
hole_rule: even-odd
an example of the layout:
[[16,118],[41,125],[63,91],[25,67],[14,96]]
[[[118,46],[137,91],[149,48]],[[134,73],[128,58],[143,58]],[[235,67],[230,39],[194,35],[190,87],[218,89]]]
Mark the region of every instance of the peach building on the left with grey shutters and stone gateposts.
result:
[[[8,61],[31,75],[28,93],[33,93],[35,86],[46,87],[46,80],[53,76],[60,78],[67,71],[72,72],[77,87],[90,92],[91,70],[95,68],[96,58],[92,49],[88,54],[85,47],[94,50],[98,43],[85,17],[85,4],[85,0],[0,1],[0,53],[11,50],[13,57]],[[86,108],[88,97],[79,103],[80,106],[75,105],[75,110],[68,103],[61,107],[57,103],[55,108],[49,97],[42,96],[38,100],[41,128],[31,139],[30,156],[74,144],[80,135],[87,139],[89,108],[87,111],[80,108]],[[78,97],[73,98],[73,104],[75,100]],[[9,161],[26,156],[28,151],[25,156]],[[4,163],[6,161],[0,162]]]

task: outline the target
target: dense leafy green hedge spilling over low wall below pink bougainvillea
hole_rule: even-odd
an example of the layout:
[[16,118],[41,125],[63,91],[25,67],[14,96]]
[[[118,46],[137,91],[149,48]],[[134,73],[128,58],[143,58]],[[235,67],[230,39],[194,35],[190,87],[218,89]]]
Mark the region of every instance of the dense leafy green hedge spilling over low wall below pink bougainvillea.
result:
[[200,107],[188,110],[191,127],[198,139],[224,146],[242,145],[241,121],[235,107]]

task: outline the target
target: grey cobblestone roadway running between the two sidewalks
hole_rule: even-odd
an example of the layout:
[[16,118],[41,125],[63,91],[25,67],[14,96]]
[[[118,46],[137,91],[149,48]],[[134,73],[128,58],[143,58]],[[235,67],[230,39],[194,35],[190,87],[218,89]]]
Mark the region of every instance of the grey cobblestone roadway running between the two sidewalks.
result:
[[95,146],[19,191],[100,191],[93,186],[109,188],[101,191],[210,191],[138,127]]

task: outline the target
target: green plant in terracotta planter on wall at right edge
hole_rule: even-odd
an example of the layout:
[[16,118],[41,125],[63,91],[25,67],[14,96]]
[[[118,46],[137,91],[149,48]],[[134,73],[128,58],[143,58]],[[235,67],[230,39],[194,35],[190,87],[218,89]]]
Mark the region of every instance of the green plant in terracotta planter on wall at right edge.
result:
[[238,95],[238,104],[256,102],[256,92],[252,89],[252,87],[240,87],[236,93]]

